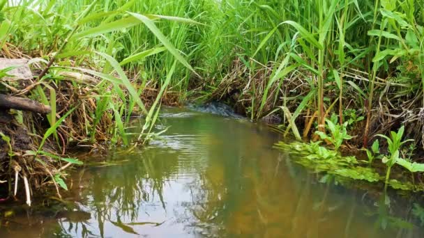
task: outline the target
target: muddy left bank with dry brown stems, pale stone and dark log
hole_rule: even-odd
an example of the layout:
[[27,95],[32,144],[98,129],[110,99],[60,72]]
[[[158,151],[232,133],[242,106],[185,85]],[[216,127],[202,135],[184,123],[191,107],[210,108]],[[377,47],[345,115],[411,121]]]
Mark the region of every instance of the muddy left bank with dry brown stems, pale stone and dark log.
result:
[[[30,204],[31,195],[47,184],[60,198],[60,191],[67,189],[66,169],[82,164],[70,154],[128,143],[121,125],[144,111],[128,104],[126,88],[96,76],[96,68],[84,67],[79,72],[55,68],[40,78],[45,70],[42,60],[0,58],[0,70],[5,72],[0,77],[1,201]],[[144,88],[140,95],[147,107],[158,95],[154,87]],[[172,92],[161,100],[178,104]]]

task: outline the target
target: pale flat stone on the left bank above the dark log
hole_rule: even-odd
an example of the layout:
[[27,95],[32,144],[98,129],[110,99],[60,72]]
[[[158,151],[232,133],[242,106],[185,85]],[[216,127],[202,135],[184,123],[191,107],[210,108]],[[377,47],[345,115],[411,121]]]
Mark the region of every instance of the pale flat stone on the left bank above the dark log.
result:
[[3,79],[33,79],[31,69],[29,69],[27,58],[0,58],[0,70],[8,67],[18,66],[7,73],[13,77],[3,77]]

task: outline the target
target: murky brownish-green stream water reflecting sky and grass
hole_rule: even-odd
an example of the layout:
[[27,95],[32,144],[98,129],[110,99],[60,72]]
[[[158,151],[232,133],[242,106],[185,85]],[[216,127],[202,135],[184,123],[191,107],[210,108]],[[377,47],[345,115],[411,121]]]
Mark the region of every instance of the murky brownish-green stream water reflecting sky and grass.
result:
[[167,109],[165,127],[75,170],[64,202],[0,207],[0,237],[423,237],[411,204],[319,182],[263,125]]

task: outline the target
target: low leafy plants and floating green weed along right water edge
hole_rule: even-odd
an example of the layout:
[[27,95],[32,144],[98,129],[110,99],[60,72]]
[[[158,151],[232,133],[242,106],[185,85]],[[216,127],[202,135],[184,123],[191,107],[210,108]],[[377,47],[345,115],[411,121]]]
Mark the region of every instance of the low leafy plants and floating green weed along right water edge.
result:
[[[357,160],[356,157],[353,156],[342,156],[342,154],[338,152],[338,148],[344,139],[349,139],[351,136],[346,134],[345,127],[343,127],[343,129],[335,127],[331,120],[327,120],[327,123],[332,134],[331,137],[321,132],[316,133],[319,134],[323,140],[330,141],[334,145],[334,150],[321,146],[321,141],[311,141],[309,144],[299,142],[280,142],[276,145],[276,147],[281,150],[291,151],[292,154],[296,154],[297,156],[295,160],[298,164],[312,168],[318,173],[324,172],[330,175],[337,175],[338,177],[349,178],[352,180],[366,180],[368,182],[384,181],[385,191],[388,186],[391,186],[394,189],[424,191],[424,184],[421,181],[416,183],[416,174],[414,174],[417,172],[423,173],[424,164],[411,162],[410,156],[409,158],[403,158],[400,155],[402,145],[409,141],[413,141],[402,141],[404,126],[400,127],[398,132],[391,132],[391,138],[384,135],[378,135],[386,139],[388,144],[388,154],[380,153],[379,141],[376,140],[372,144],[371,150],[365,148],[368,157],[368,161],[366,161],[365,159]],[[344,126],[346,125],[347,122],[345,122]],[[379,173],[382,173],[383,169],[380,167],[372,167],[373,161],[376,158],[381,159],[381,163],[386,165],[386,175],[384,179],[381,175],[379,175]],[[398,166],[402,166],[404,169],[408,170],[411,173],[411,177],[403,176],[403,173],[401,172],[401,176],[397,176],[397,179],[390,180],[391,169],[395,164],[398,164]]]

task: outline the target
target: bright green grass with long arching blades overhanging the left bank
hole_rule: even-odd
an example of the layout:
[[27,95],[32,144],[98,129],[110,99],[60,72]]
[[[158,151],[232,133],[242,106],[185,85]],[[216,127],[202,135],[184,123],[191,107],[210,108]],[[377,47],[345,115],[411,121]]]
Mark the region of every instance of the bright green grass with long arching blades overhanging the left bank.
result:
[[[109,133],[119,134],[119,137],[113,136],[112,141],[119,138],[127,145],[125,122],[128,123],[135,106],[140,113],[146,115],[146,125],[141,132],[144,134],[144,130],[150,130],[156,120],[153,112],[157,111],[157,102],[174,72],[174,66],[165,64],[158,70],[160,74],[156,74],[156,79],[163,78],[157,84],[161,90],[156,103],[147,109],[140,98],[147,76],[142,74],[144,79],[129,78],[132,75],[131,68],[139,67],[135,62],[144,62],[146,58],[166,51],[167,61],[173,65],[174,61],[179,62],[182,68],[197,74],[185,60],[185,56],[168,40],[169,35],[165,36],[156,26],[156,22],[163,20],[172,22],[174,26],[199,23],[183,17],[132,13],[130,10],[135,10],[135,3],[137,1],[114,2],[111,5],[101,1],[80,1],[76,4],[69,1],[21,1],[16,5],[1,5],[4,18],[1,22],[1,35],[5,54],[8,53],[10,44],[13,44],[13,49],[39,56],[41,62],[43,58],[49,61],[39,76],[39,80],[45,83],[38,86],[33,97],[43,98],[43,102],[51,104],[54,109],[49,117],[51,129],[55,130],[59,125],[55,123],[56,92],[49,84],[60,81],[59,75],[63,72],[80,71],[100,79],[96,85],[91,85],[94,86],[91,91],[96,92],[93,100],[98,102],[95,111],[87,112],[83,106],[83,114],[92,113],[89,118],[93,118],[93,123],[86,120],[87,138],[92,141],[96,138],[98,123],[107,116],[107,121],[114,122],[114,125],[109,125],[112,128]],[[125,38],[128,34],[126,31],[137,32],[137,38]],[[132,42],[125,42],[128,39]],[[155,45],[142,44],[141,42],[148,41],[146,39],[153,41]],[[126,48],[128,54],[121,52],[125,44],[131,46]],[[56,63],[54,67],[53,63]],[[90,65],[93,63],[99,65]],[[126,65],[129,66],[124,72],[122,67]],[[77,84],[74,86],[79,87]],[[45,88],[50,90],[50,99],[44,93]],[[63,118],[60,121],[62,120]]]

